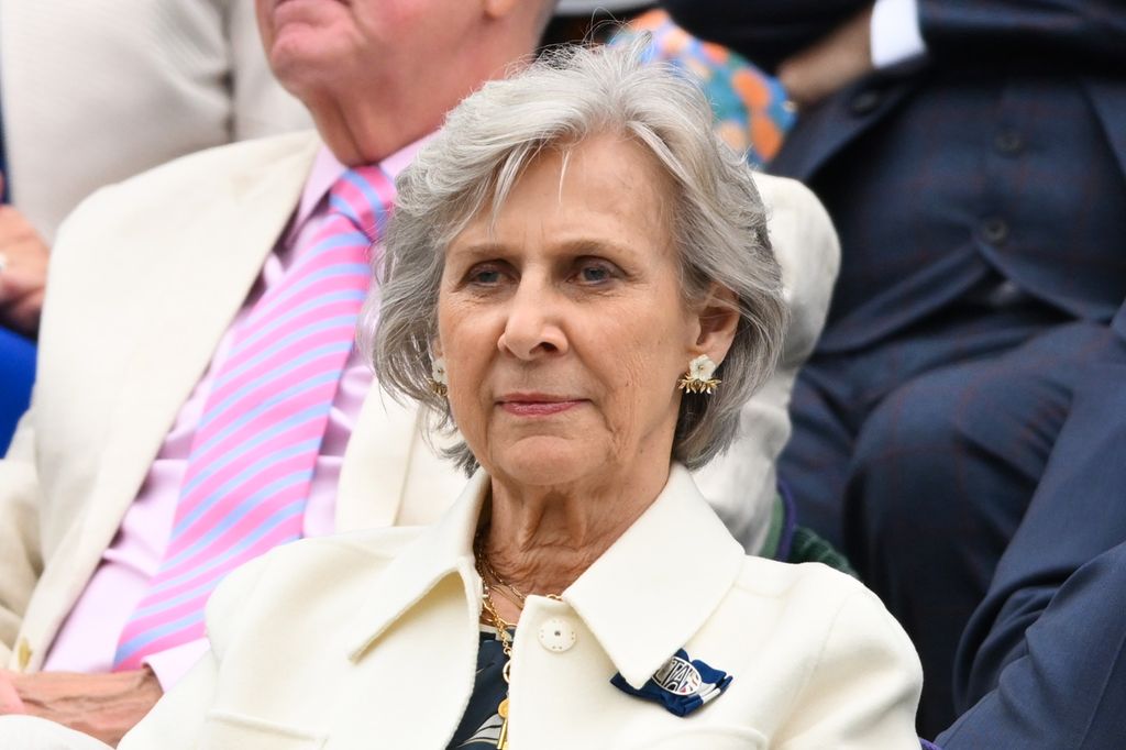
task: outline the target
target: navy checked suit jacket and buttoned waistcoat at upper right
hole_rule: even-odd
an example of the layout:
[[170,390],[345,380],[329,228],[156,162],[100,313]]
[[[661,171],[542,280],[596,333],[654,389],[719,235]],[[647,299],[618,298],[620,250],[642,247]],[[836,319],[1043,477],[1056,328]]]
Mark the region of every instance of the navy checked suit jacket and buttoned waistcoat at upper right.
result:
[[[774,70],[870,2],[664,5]],[[803,110],[770,166],[810,184],[841,234],[821,350],[877,342],[1000,279],[1108,321],[1126,298],[1126,3],[919,9],[927,60]]]

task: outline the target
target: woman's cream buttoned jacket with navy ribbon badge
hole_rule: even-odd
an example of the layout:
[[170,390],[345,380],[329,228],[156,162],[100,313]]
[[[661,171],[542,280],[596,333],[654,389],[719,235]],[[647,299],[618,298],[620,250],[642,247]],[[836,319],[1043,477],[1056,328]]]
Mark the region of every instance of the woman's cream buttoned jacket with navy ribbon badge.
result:
[[[301,542],[233,573],[212,652],[120,750],[446,748],[476,670],[489,484],[423,530]],[[640,688],[681,648],[734,678],[687,717],[610,684]],[[876,596],[744,556],[680,466],[562,600],[528,598],[511,664],[513,750],[919,748],[921,667]]]

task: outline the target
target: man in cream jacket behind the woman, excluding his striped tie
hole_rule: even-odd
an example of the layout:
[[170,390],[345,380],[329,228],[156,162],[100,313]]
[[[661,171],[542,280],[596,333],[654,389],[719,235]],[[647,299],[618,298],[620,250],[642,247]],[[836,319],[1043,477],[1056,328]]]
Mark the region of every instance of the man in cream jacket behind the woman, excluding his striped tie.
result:
[[[14,670],[0,687],[16,702],[0,709],[59,718],[81,703],[87,723],[72,723],[115,739],[198,658],[204,646],[185,644],[187,653],[154,657],[135,675],[98,673],[111,668],[117,635],[90,633],[106,622],[119,632],[136,606],[101,583],[168,473],[179,465],[182,476],[177,446],[190,441],[232,321],[270,283],[271,265],[284,265],[309,205],[324,202],[314,184],[325,171],[331,181],[333,166],[336,175],[401,167],[462,96],[533,48],[551,5],[428,0],[392,12],[377,0],[259,0],[275,72],[310,107],[318,134],[172,162],[96,194],[64,224],[33,407],[0,463],[0,660]],[[794,370],[820,330],[837,268],[816,200],[794,182],[760,185],[794,311],[786,361],[748,407],[742,444],[697,476],[751,548],[766,530]],[[464,484],[427,446],[413,410],[369,392],[361,372],[350,360],[342,374],[306,535],[431,523]],[[319,520],[318,494],[328,503]],[[171,525],[162,518],[161,550]],[[138,563],[138,575],[152,577],[160,557]],[[101,662],[90,655],[99,650],[109,654]],[[83,671],[93,673],[69,673]],[[45,694],[53,703],[39,706]],[[123,715],[125,725],[107,718]]]

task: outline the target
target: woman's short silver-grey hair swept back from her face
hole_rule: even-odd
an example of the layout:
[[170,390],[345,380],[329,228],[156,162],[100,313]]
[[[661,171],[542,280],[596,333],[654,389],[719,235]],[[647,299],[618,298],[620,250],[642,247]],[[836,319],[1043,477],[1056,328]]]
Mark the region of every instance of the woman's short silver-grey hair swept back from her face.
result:
[[[734,292],[740,316],[716,370],[723,384],[713,395],[681,400],[672,458],[697,468],[735,438],[740,410],[781,348],[781,271],[750,167],[713,133],[708,101],[683,73],[644,62],[647,43],[645,35],[618,48],[549,50],[465,99],[399,176],[382,284],[361,316],[361,343],[383,389],[429,408],[431,429],[453,427],[448,403],[430,387],[446,248],[482,211],[495,217],[544,149],[620,134],[652,153],[673,186],[685,300],[701,302],[716,283]],[[466,471],[476,466],[464,443],[446,453]]]

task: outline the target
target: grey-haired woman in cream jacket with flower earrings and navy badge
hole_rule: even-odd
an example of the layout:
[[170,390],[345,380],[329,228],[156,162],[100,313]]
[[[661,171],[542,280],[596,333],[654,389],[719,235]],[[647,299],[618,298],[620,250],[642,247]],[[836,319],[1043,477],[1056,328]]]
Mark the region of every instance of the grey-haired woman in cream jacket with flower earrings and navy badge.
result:
[[400,178],[374,363],[456,426],[462,497],[232,574],[122,748],[919,747],[876,597],[744,556],[689,475],[785,306],[749,170],[638,50],[490,83]]

